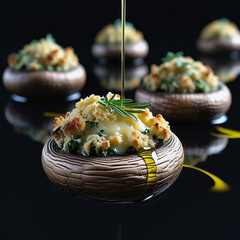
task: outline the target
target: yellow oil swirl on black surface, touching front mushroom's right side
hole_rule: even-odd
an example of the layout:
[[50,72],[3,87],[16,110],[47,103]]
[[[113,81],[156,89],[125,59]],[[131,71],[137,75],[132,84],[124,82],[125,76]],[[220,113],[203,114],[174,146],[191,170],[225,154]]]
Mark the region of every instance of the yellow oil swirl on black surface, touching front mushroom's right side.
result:
[[221,193],[221,192],[228,192],[228,191],[231,190],[231,187],[226,182],[224,182],[222,179],[213,175],[210,172],[207,172],[207,171],[205,171],[201,168],[190,166],[190,165],[187,165],[187,164],[183,164],[183,167],[195,169],[199,172],[202,172],[202,173],[206,174],[208,177],[210,177],[214,181],[214,185],[209,189],[211,192]]

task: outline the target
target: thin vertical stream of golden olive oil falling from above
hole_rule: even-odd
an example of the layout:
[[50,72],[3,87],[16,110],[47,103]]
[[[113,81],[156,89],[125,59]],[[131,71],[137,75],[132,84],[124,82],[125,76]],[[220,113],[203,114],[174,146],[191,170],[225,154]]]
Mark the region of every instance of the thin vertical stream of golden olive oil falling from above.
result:
[[[121,39],[121,99],[124,99],[125,81],[125,24],[126,24],[126,0],[121,0],[122,39]],[[122,102],[123,107],[123,102]]]

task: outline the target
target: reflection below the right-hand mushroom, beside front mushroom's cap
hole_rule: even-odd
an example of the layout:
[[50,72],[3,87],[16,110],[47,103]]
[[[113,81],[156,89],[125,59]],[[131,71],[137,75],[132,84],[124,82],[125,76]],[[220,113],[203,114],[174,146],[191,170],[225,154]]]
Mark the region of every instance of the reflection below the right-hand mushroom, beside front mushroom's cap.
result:
[[184,148],[184,163],[196,165],[206,161],[207,157],[221,153],[228,144],[227,138],[217,138],[210,135],[212,126],[201,124],[172,125]]

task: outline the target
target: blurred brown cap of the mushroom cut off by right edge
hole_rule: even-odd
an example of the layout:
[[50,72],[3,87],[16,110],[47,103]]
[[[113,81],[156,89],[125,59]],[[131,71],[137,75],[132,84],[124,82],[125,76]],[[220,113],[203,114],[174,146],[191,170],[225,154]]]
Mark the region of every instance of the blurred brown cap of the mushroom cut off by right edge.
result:
[[219,54],[240,51],[240,36],[224,39],[199,38],[196,45],[198,50],[205,54]]

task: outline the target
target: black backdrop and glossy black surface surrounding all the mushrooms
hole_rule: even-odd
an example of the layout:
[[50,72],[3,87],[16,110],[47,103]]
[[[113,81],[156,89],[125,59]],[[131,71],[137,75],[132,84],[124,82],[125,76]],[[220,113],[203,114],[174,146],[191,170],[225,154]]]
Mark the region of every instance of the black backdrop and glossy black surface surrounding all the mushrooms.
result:
[[[168,51],[198,57],[195,40],[208,22],[228,17],[240,26],[240,2],[127,1],[127,19],[150,45],[147,64]],[[105,24],[120,17],[120,1],[4,1],[0,7],[1,71],[10,52],[52,33],[74,47],[88,74],[82,96],[105,93],[92,73],[91,45]],[[239,79],[229,84],[233,104],[224,127],[239,129]],[[129,93],[132,95],[132,93]],[[127,206],[81,200],[62,192],[41,167],[42,144],[14,131],[5,116],[10,95],[0,87],[0,239],[240,239],[239,140],[199,167],[228,182],[232,191],[210,193],[212,182],[183,169],[160,199]],[[41,111],[41,110],[39,110]],[[193,133],[193,138],[197,136]]]

